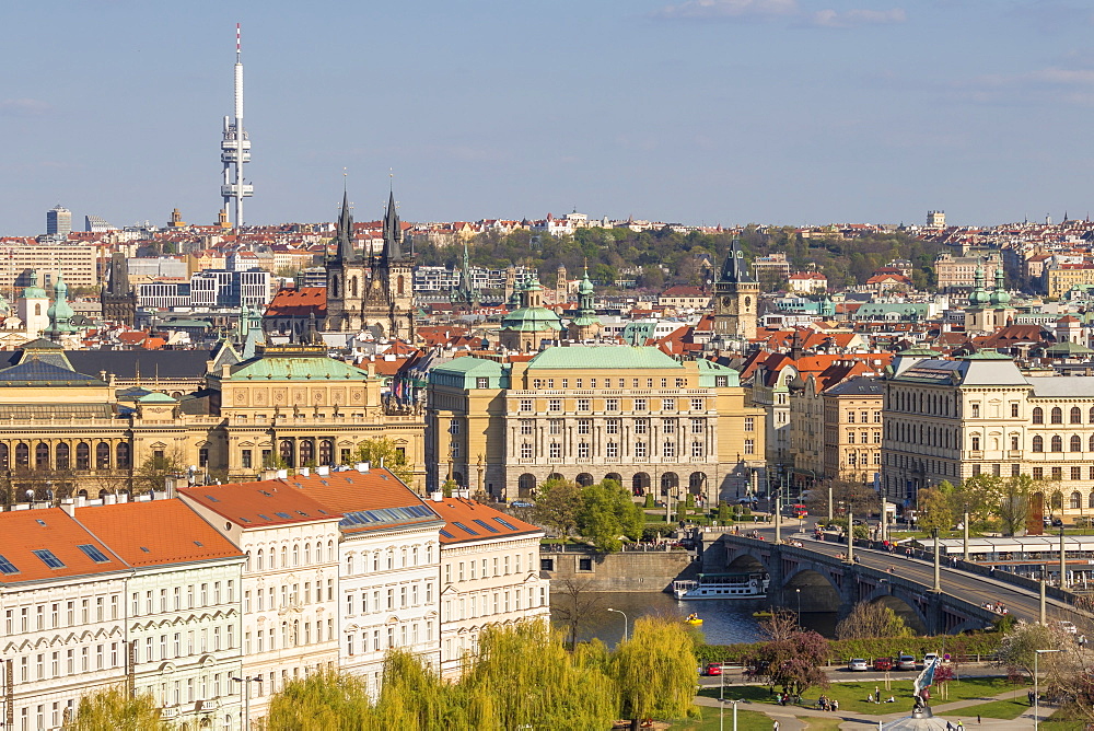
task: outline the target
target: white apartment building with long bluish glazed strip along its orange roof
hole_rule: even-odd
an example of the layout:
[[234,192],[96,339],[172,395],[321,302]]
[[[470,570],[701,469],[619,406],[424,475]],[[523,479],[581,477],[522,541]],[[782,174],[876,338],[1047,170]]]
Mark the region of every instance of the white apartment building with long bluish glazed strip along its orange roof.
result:
[[392,473],[353,469],[289,477],[290,486],[341,515],[338,637],[344,671],[379,693],[384,655],[404,648],[439,669],[439,530],[443,521]]

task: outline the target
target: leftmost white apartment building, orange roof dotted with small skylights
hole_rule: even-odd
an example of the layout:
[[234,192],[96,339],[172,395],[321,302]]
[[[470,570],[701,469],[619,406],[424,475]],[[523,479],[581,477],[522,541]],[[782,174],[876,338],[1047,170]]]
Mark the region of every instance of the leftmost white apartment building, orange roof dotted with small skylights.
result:
[[0,513],[13,731],[59,729],[82,695],[124,680],[130,570],[60,508]]

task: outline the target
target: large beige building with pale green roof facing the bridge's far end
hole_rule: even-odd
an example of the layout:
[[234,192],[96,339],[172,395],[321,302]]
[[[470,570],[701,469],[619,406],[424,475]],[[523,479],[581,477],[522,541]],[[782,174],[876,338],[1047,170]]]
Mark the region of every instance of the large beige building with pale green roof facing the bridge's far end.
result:
[[427,422],[428,484],[451,475],[493,498],[561,476],[715,500],[764,467],[764,411],[746,405],[737,371],[652,347],[456,358],[430,373]]

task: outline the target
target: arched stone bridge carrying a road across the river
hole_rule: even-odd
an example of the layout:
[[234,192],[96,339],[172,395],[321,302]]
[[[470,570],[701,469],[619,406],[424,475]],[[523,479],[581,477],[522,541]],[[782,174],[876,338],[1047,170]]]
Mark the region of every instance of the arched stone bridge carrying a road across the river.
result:
[[[839,547],[846,550],[846,546]],[[723,535],[709,544],[702,561],[702,571],[710,573],[767,571],[771,577],[768,597],[792,611],[800,602],[802,612],[837,612],[843,617],[860,602],[880,603],[912,629],[930,635],[980,629],[999,618],[975,595],[931,591],[933,568],[922,564],[901,561],[896,573],[888,573],[881,567],[849,564],[836,555],[812,550],[808,544],[799,548],[737,535]],[[884,562],[884,557],[880,561]],[[984,580],[970,576],[969,581]]]

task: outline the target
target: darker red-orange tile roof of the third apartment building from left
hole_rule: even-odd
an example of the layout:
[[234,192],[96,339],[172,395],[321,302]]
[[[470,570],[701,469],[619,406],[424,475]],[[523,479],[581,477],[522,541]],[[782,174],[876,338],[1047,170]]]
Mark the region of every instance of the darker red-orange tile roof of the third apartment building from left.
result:
[[341,518],[281,479],[185,487],[178,495],[244,530]]

